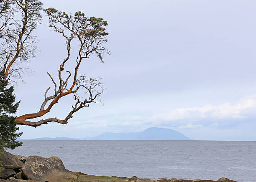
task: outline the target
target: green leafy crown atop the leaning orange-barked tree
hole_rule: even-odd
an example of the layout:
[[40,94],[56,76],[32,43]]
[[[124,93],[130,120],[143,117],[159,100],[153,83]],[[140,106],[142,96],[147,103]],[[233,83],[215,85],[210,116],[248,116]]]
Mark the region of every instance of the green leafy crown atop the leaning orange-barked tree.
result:
[[103,54],[110,55],[108,49],[102,46],[108,41],[106,36],[109,35],[108,32],[105,32],[108,22],[103,21],[103,18],[87,17],[82,11],[68,15],[64,11],[54,8],[44,9],[44,12],[49,17],[49,27],[53,28],[53,31],[61,33],[67,39],[67,44],[73,38],[78,38],[82,43],[80,49],[82,58],[89,58],[91,54],[96,54],[103,63]]

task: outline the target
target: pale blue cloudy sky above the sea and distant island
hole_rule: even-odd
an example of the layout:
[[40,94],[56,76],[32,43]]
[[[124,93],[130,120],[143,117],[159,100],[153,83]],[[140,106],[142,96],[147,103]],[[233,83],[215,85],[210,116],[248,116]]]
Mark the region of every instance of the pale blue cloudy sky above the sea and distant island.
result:
[[[79,68],[80,75],[103,78],[106,93],[100,97],[104,105],[91,104],[67,125],[20,126],[21,138],[80,138],[156,126],[194,140],[256,141],[256,1],[43,3],[44,8],[72,14],[81,10],[108,21],[105,47],[112,55],[104,56],[105,63],[90,57]],[[47,72],[56,77],[67,55],[63,37],[51,32],[43,18],[35,31],[41,51],[29,64],[33,75],[24,74],[26,83],[18,81],[15,88],[21,100],[17,116],[40,109],[46,88],[53,88]],[[72,104],[72,97],[63,98],[40,119],[64,119]]]

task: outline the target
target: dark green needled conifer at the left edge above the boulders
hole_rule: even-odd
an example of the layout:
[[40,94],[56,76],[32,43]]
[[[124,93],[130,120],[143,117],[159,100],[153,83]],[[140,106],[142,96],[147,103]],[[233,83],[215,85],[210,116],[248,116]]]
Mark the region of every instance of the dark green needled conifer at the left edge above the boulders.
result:
[[7,88],[8,81],[4,81],[4,73],[0,71],[0,150],[15,149],[22,145],[22,142],[16,141],[22,132],[18,131],[15,117],[8,114],[17,112],[19,102],[15,102],[15,94],[13,94],[13,86]]

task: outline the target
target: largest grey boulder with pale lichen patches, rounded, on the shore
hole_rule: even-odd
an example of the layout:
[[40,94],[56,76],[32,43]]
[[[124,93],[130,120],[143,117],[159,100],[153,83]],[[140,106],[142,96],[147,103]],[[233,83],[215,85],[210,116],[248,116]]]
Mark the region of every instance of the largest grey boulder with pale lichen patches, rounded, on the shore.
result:
[[22,167],[22,171],[28,180],[48,182],[77,181],[77,175],[68,172],[59,157],[29,156]]

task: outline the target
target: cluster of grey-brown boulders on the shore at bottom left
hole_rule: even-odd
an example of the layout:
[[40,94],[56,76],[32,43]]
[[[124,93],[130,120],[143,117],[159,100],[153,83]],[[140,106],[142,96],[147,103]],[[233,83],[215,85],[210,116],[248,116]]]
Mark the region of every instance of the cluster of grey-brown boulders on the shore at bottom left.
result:
[[13,155],[0,152],[0,182],[77,182],[77,175],[65,169],[59,157]]

